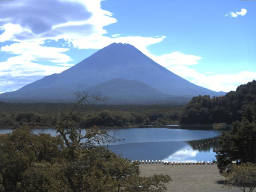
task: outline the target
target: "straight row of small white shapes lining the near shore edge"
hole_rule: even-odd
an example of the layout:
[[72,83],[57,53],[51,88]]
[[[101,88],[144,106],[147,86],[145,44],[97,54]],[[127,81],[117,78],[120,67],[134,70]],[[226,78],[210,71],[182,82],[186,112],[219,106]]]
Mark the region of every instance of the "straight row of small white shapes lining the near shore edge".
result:
[[[136,161],[132,161],[132,162],[137,162],[137,160]],[[159,160],[159,161],[154,161],[154,160],[149,160],[149,161],[147,161],[147,160],[139,160],[138,161],[140,164],[154,164],[154,163],[162,163],[162,164],[164,164],[164,165],[205,165],[206,163],[205,163],[205,161],[185,161],[185,162],[180,162],[180,161],[175,161],[175,162],[169,162],[169,161],[164,161],[164,160]],[[214,164],[214,162],[209,162],[209,161],[207,161],[207,165],[209,165],[209,164]]]

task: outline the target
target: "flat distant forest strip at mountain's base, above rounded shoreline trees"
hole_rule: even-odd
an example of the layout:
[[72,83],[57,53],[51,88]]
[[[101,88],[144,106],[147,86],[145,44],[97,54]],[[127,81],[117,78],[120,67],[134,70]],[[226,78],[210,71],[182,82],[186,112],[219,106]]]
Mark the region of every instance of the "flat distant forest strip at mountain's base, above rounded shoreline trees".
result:
[[[58,112],[67,113],[73,106],[73,103],[10,103],[0,101],[0,113],[36,112],[38,114],[55,115],[58,114]],[[179,111],[183,106],[184,105],[172,104],[81,104],[77,107],[76,113],[87,114],[91,112],[102,112],[104,110],[110,110],[128,111],[142,114],[164,114],[170,111]]]

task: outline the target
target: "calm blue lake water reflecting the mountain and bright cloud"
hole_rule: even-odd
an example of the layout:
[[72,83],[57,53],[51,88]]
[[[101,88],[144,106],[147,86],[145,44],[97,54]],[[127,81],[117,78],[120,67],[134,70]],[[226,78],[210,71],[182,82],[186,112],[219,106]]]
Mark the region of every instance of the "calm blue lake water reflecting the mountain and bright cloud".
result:
[[[0,130],[0,134],[12,130]],[[56,135],[54,129],[34,129],[35,134]],[[123,158],[130,160],[168,160],[168,161],[212,161],[218,149],[220,134],[212,130],[175,128],[129,128],[109,130],[120,141],[109,148]],[[124,139],[124,140],[122,140]]]

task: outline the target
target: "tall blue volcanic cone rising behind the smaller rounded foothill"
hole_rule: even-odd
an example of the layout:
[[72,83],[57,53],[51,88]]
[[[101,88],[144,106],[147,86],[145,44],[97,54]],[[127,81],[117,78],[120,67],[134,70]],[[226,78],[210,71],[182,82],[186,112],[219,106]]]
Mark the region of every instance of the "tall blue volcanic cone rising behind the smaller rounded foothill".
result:
[[139,81],[173,96],[220,95],[170,72],[130,44],[114,43],[60,74],[46,76],[15,92],[1,94],[0,99],[22,100],[24,97],[29,100],[38,99],[38,96],[43,99],[44,95],[44,100],[49,101],[58,100],[59,97],[68,99],[76,90],[86,90],[116,78]]

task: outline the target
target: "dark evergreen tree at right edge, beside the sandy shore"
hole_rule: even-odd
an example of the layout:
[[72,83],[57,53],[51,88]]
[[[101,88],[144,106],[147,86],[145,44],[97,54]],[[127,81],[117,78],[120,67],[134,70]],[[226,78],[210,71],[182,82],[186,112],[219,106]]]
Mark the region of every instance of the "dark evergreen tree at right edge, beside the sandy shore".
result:
[[230,131],[222,132],[218,139],[221,149],[216,159],[220,172],[229,171],[232,162],[256,163],[256,124],[247,119],[234,122]]

